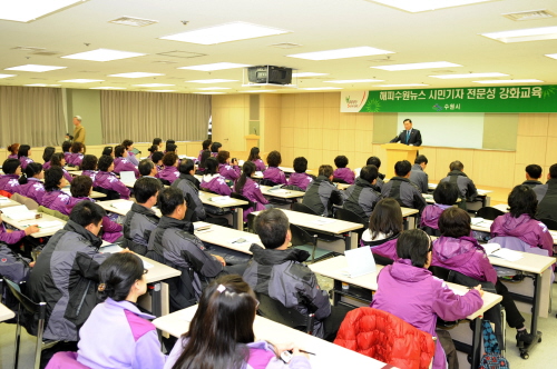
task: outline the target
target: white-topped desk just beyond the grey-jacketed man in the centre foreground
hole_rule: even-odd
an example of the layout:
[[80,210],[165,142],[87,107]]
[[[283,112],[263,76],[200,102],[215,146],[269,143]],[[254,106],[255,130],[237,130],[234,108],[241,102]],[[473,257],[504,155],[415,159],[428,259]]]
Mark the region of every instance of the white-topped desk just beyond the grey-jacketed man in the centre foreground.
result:
[[[284,210],[286,217],[289,217],[289,221],[293,225],[300,226],[302,228],[320,231],[323,233],[332,233],[344,237],[345,249],[355,249],[358,248],[358,235],[353,231],[360,228],[363,228],[361,223],[352,223],[350,221],[332,219],[332,218],[323,218],[320,216],[306,215],[303,212]],[[253,212],[253,215],[257,216],[260,211]],[[323,220],[332,220],[328,223],[321,223]]]

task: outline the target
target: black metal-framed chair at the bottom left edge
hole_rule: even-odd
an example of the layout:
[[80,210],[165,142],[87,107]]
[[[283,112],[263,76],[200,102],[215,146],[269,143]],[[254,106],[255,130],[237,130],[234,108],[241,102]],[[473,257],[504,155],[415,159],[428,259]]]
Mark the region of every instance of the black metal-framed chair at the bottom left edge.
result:
[[37,336],[37,343],[35,347],[35,365],[33,369],[39,369],[40,357],[42,350],[51,348],[58,341],[43,340],[42,332],[45,331],[45,320],[47,318],[47,302],[35,302],[21,292],[20,285],[12,282],[11,280],[4,278],[4,285],[10,290],[11,295],[18,300],[18,311],[16,318],[16,353],[13,358],[13,368],[17,369],[19,365],[19,347],[21,340],[21,315],[26,310],[27,313],[31,315],[35,321],[37,321],[37,327],[32,327],[32,330]]

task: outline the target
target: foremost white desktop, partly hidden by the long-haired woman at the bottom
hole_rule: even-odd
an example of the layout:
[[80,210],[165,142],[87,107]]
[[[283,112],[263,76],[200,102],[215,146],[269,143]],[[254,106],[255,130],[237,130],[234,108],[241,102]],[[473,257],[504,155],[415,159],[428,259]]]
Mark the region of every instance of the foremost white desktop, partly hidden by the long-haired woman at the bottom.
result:
[[[153,323],[174,337],[180,337],[189,329],[189,322],[196,310],[197,306],[193,306],[155,319]],[[274,343],[294,342],[300,348],[314,352],[315,356],[310,358],[312,368],[343,368],[348,366],[350,368],[381,369],[387,366],[384,362],[260,316],[255,316],[253,330],[256,340],[267,340]]]

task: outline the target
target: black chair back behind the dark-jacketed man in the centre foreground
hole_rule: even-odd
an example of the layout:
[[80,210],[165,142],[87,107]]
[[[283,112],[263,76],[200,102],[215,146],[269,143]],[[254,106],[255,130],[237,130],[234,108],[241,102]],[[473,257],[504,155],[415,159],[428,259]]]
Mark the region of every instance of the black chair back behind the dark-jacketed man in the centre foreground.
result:
[[267,295],[255,292],[255,298],[260,301],[257,313],[263,318],[276,321],[290,328],[312,335],[315,315],[310,312],[303,315],[296,308],[286,308],[281,301]]

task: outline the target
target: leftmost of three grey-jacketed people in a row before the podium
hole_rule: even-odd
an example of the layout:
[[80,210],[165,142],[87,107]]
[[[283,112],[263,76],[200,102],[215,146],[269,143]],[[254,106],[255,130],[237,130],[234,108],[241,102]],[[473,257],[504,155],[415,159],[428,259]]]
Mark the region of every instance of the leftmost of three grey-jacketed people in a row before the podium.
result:
[[341,191],[333,184],[333,167],[319,167],[317,178],[311,182],[305,191],[303,203],[316,215],[332,217],[333,205],[342,205]]

